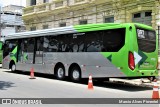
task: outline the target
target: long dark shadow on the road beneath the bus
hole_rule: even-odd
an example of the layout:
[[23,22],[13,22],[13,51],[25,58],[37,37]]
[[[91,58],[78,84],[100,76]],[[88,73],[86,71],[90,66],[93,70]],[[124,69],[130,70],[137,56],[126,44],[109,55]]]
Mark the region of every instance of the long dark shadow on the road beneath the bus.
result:
[[[23,75],[30,75],[30,72],[22,72],[22,71],[16,71],[16,72],[10,72],[10,71],[4,71],[7,73],[14,73],[14,74],[23,74]],[[47,79],[56,79],[54,75],[51,74],[41,74],[41,73],[35,73],[35,77],[43,77]],[[72,82],[68,77],[65,78],[66,82]],[[80,83],[77,84],[88,84],[88,79],[82,79]],[[116,82],[109,82],[109,81],[104,81],[100,82],[97,80],[93,80],[93,84],[96,87],[102,87],[102,88],[110,88],[110,89],[118,89],[118,90],[123,90],[123,91],[129,91],[129,92],[136,92],[136,91],[145,91],[145,90],[152,90],[153,88],[151,87],[144,87],[144,86],[136,86],[132,84],[124,84],[124,83],[116,83]]]

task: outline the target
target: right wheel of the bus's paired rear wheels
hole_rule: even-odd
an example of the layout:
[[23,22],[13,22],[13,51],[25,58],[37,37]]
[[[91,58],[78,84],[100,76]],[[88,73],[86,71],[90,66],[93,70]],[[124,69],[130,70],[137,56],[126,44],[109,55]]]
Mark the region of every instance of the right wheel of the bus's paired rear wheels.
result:
[[70,78],[74,82],[79,82],[81,79],[81,71],[78,67],[73,67],[71,69]]

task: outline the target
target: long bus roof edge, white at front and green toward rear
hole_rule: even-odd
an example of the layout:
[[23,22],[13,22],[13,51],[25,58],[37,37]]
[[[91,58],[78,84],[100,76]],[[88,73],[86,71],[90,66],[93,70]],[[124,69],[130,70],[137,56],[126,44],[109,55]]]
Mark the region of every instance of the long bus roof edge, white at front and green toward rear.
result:
[[143,27],[146,29],[152,29],[152,27],[139,24],[139,23],[100,23],[100,24],[87,24],[87,25],[75,25],[68,27],[59,27],[52,29],[43,29],[37,31],[27,31],[20,33],[9,34],[5,37],[7,39],[19,39],[19,38],[29,38],[29,37],[39,37],[39,36],[49,36],[49,35],[60,35],[60,34],[69,34],[69,33],[79,33],[79,32],[88,32],[88,31],[96,31],[96,30],[105,30],[105,29],[113,29],[113,28],[121,28],[127,25],[136,25],[139,27]]

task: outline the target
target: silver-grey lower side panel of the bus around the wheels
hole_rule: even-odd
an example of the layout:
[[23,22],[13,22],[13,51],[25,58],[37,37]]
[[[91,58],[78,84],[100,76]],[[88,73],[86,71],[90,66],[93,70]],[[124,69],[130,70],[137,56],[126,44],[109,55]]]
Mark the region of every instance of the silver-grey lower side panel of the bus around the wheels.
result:
[[34,67],[35,72],[54,74],[55,65],[61,62],[65,67],[66,76],[68,76],[69,66],[77,63],[81,68],[82,78],[88,78],[89,74],[92,74],[94,78],[126,77],[108,58],[99,52],[44,54],[43,64],[17,63],[17,70],[30,71],[31,67]]

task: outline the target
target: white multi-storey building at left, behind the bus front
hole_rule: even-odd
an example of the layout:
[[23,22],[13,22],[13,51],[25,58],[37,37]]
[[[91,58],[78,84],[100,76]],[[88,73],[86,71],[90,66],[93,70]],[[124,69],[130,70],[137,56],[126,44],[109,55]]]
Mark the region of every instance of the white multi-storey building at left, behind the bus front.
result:
[[2,8],[1,16],[1,36],[7,36],[8,33],[22,32],[25,30],[22,21],[22,6],[9,5]]

